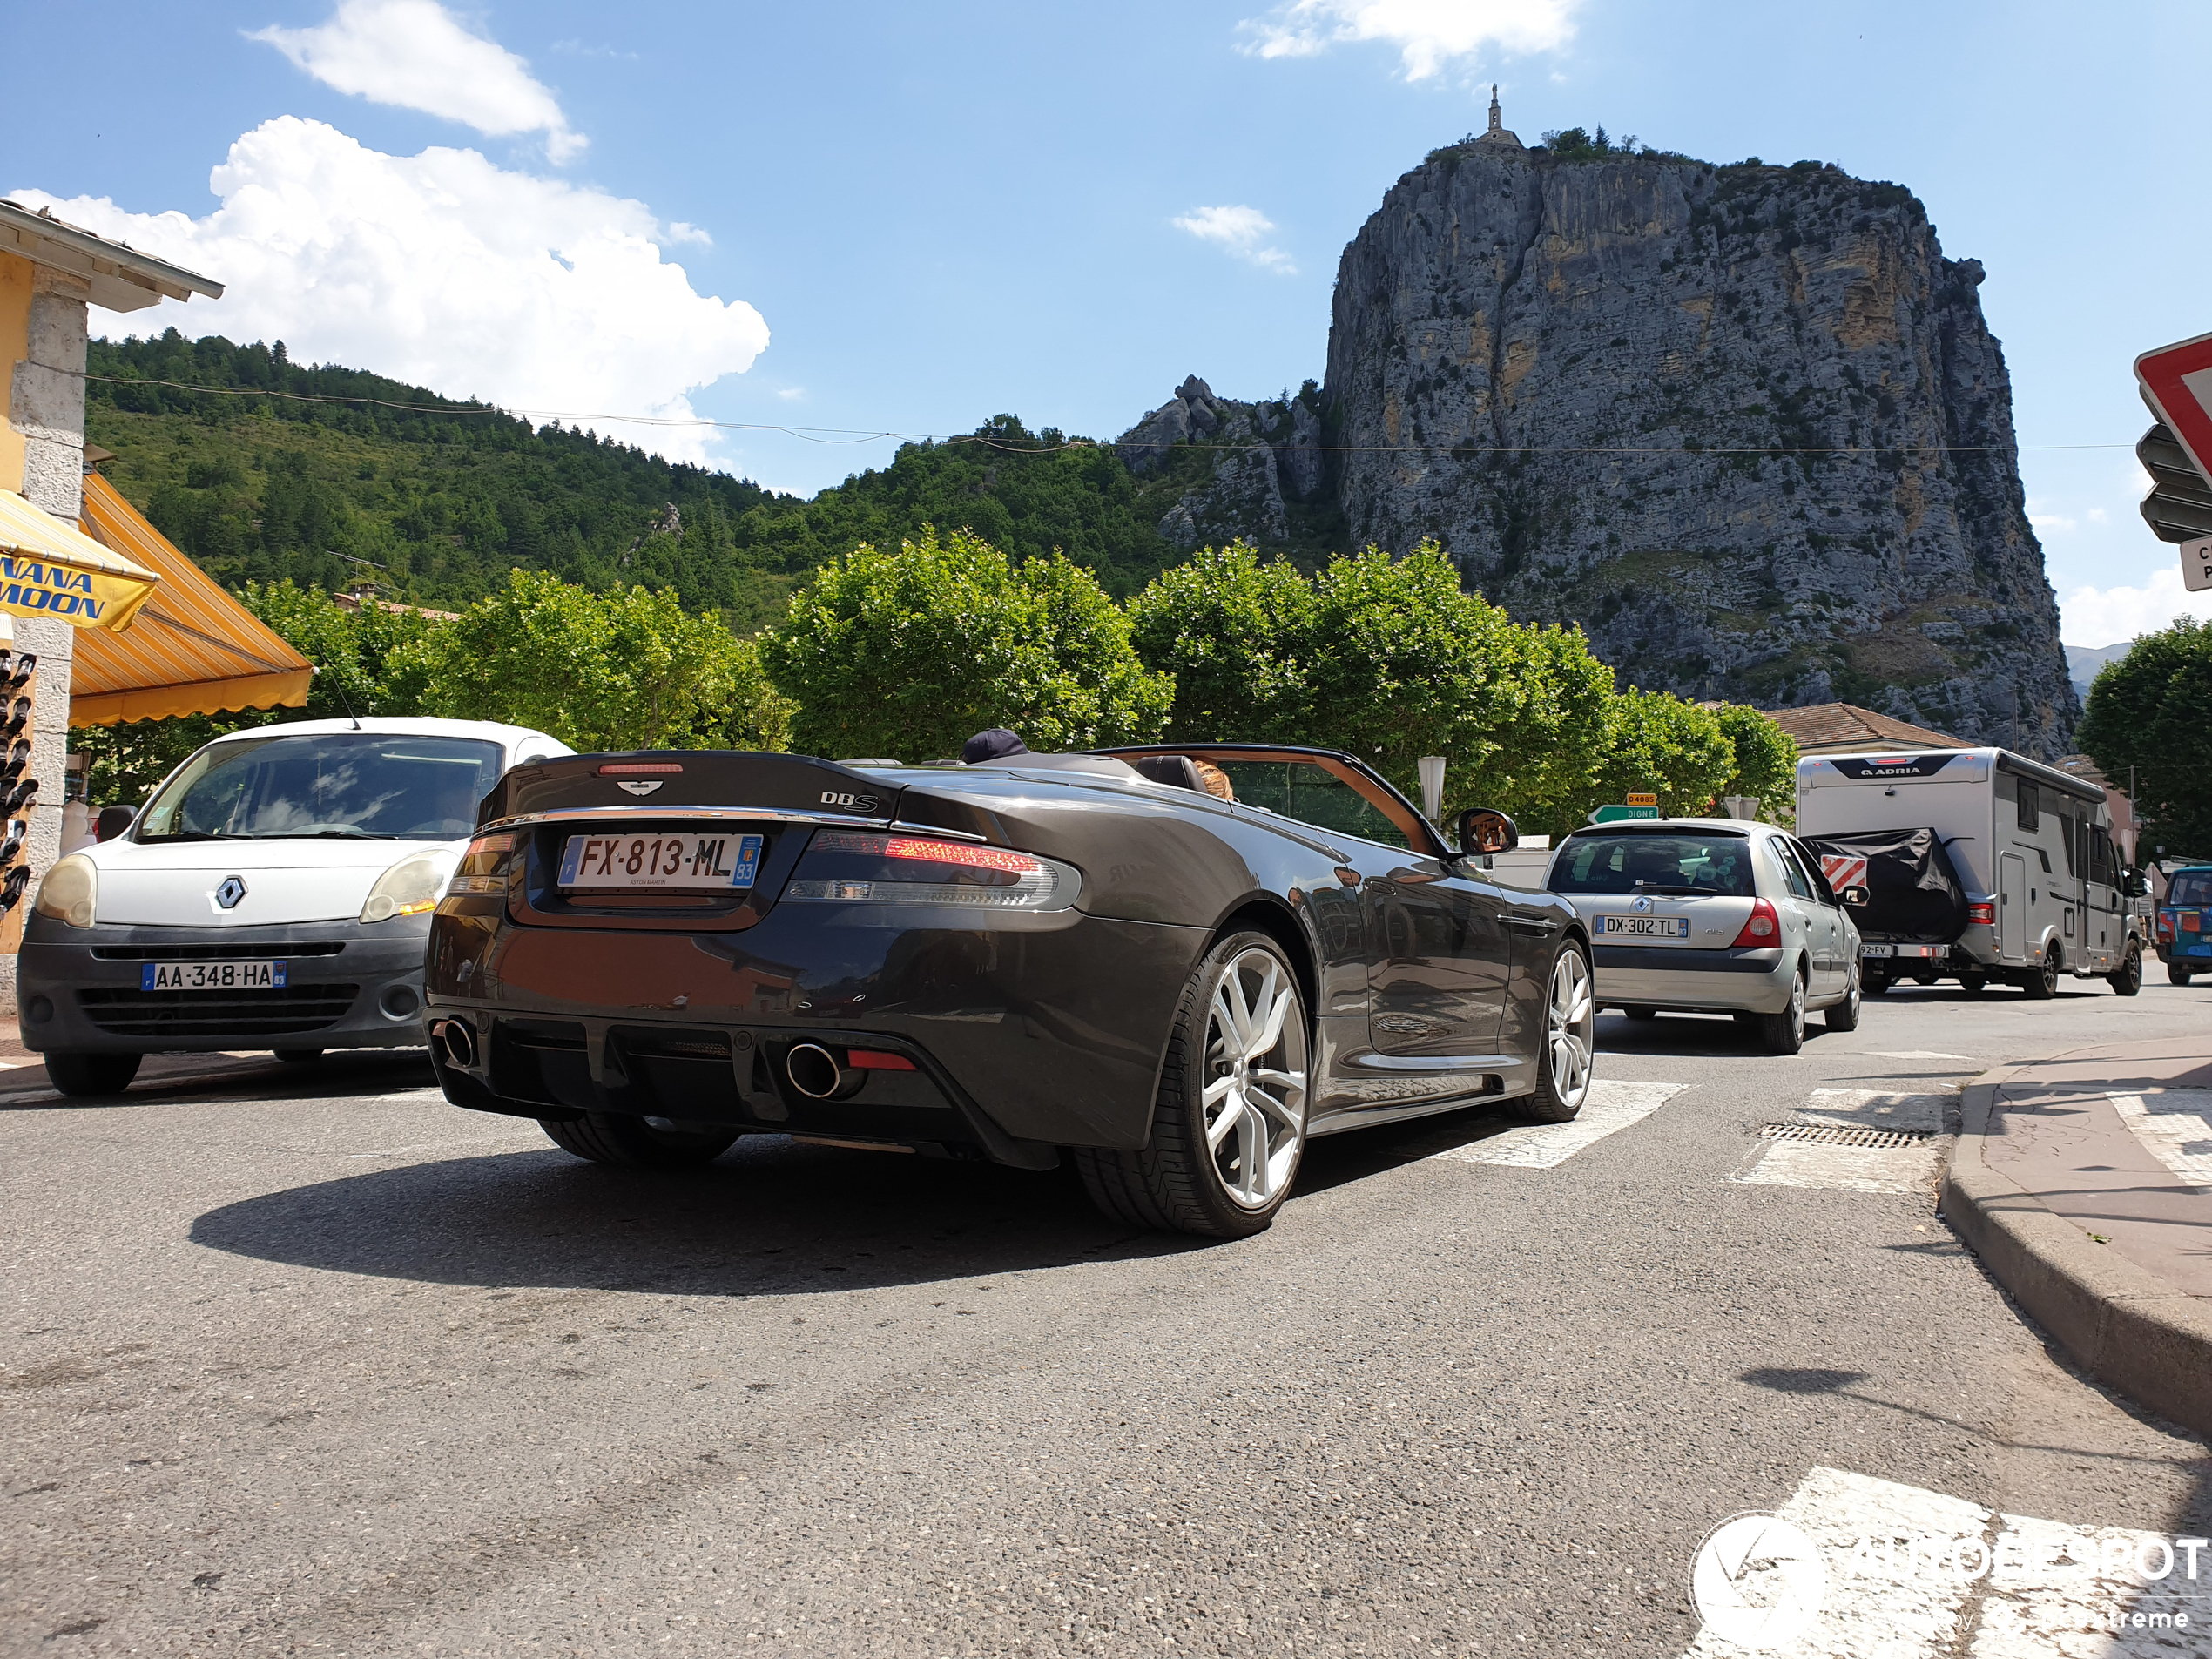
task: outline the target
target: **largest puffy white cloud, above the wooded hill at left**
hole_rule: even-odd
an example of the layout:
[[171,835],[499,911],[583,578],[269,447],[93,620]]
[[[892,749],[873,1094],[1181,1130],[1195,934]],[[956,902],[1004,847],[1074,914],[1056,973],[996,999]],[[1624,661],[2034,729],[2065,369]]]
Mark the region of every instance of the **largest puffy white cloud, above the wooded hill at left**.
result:
[[[161,321],[177,327],[281,338],[299,363],[540,418],[580,414],[602,431],[591,416],[692,418],[686,392],[743,374],[768,347],[752,305],[692,292],[661,259],[668,237],[644,204],[509,173],[476,150],[380,155],[283,115],[232,144],[208,184],[221,206],[204,219],[124,212],[106,197],[15,199],[228,285],[190,312],[168,307]],[[706,453],[699,431],[613,431],[672,460]]]

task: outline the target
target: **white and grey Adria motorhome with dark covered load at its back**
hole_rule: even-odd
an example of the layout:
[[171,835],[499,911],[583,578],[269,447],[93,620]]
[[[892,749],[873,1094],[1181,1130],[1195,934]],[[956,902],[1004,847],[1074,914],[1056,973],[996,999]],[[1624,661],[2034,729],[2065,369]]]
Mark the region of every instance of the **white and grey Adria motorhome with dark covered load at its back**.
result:
[[[1863,947],[1876,980],[1991,980],[2051,995],[2059,973],[2141,984],[2141,922],[2126,898],[2104,790],[2000,748],[1812,754],[1798,761],[1798,836],[1933,830],[1966,889],[1947,942]],[[1871,929],[1869,929],[1871,931]]]

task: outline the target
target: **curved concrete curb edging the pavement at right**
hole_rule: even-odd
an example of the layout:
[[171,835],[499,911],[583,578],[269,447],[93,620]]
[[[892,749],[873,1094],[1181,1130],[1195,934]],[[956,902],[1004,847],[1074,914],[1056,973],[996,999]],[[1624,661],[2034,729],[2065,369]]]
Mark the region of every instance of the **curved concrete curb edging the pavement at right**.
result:
[[2212,1436],[2212,1310],[2137,1267],[1982,1157],[1997,1093],[2022,1066],[1984,1071],[1942,1179],[1942,1214],[2081,1367],[2174,1422]]

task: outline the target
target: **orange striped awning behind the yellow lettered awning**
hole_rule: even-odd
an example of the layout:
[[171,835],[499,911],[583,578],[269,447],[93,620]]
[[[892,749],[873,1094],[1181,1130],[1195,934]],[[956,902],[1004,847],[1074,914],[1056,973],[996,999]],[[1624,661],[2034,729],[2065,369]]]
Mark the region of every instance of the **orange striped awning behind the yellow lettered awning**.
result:
[[[84,476],[84,529],[108,557],[137,562],[161,593],[126,637],[86,630],[69,672],[69,723],[115,726],[241,708],[299,708],[314,668],[265,622],[139,518],[100,473]],[[97,540],[93,540],[97,538]]]

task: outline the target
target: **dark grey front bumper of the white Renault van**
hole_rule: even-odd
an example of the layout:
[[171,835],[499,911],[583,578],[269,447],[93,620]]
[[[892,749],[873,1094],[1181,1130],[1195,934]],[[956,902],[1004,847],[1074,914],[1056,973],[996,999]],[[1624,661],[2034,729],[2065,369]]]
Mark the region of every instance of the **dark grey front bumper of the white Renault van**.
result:
[[[31,916],[15,1026],[38,1053],[403,1048],[422,1042],[429,916],[281,927],[69,927]],[[285,962],[283,991],[142,991],[148,960]]]

